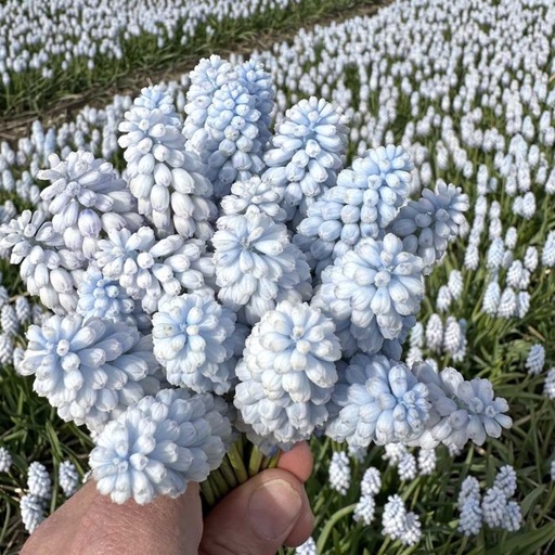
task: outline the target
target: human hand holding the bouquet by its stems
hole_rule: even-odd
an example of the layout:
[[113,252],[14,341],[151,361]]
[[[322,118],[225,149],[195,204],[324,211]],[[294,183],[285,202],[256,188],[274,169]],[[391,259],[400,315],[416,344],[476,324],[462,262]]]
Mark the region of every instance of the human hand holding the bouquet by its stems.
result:
[[199,488],[149,505],[117,505],[98,493],[93,480],[50,516],[21,555],[274,555],[312,532],[302,483],[312,455],[299,443],[218,503],[203,520]]

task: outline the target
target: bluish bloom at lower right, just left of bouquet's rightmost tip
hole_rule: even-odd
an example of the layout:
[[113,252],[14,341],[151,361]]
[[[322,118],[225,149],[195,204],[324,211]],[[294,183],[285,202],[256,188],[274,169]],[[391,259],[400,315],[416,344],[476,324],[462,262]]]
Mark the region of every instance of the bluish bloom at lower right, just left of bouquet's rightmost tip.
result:
[[330,403],[326,435],[358,447],[418,438],[430,413],[428,390],[403,363],[357,354]]

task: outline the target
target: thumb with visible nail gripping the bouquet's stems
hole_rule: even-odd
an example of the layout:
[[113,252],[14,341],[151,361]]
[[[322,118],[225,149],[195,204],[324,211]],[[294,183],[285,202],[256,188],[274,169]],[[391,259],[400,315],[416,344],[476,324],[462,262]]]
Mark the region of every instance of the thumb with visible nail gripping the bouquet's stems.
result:
[[312,531],[312,514],[300,481],[291,473],[264,470],[229,493],[204,522],[201,555],[275,555]]

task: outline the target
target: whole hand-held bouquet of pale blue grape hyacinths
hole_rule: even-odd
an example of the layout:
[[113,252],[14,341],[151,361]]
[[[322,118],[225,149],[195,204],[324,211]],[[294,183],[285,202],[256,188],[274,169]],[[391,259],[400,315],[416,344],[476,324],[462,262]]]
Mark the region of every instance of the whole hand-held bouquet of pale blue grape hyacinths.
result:
[[0,227],[50,311],[17,371],[88,427],[99,491],[144,504],[194,481],[210,505],[314,435],[433,449],[508,428],[487,379],[401,361],[425,275],[467,231],[461,189],[411,199],[392,144],[345,167],[347,122],[323,99],[272,132],[255,62],[203,60],[186,98],[183,121],[143,89],[121,175],[51,155],[38,208]]

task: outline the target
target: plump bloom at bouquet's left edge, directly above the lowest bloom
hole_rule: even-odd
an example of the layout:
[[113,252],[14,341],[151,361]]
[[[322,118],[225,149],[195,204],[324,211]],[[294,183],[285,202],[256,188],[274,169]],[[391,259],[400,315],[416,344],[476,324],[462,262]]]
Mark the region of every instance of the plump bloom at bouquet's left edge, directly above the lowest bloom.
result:
[[152,336],[137,327],[79,314],[53,315],[27,331],[20,374],[60,417],[99,430],[128,405],[157,391]]

